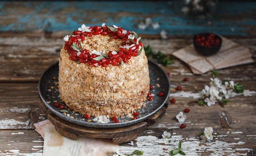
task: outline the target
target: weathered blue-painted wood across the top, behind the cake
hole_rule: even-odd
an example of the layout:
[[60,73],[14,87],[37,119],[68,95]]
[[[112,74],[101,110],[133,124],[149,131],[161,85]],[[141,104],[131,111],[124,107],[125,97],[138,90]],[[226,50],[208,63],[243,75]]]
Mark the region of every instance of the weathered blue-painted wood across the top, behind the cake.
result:
[[[82,24],[104,22],[147,35],[164,29],[169,36],[209,31],[224,36],[256,36],[256,1],[221,1],[216,14],[203,20],[182,15],[181,7],[177,1],[1,1],[0,31],[74,31]],[[139,22],[147,17],[159,22],[159,29],[139,29]]]

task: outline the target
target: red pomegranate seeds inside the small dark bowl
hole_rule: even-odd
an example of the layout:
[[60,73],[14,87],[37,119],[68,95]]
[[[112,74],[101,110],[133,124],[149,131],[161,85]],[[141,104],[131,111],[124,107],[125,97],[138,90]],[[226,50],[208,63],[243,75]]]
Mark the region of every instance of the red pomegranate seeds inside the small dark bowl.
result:
[[220,39],[216,37],[214,33],[210,33],[207,36],[200,36],[199,34],[195,37],[195,43],[202,47],[213,47],[220,44]]

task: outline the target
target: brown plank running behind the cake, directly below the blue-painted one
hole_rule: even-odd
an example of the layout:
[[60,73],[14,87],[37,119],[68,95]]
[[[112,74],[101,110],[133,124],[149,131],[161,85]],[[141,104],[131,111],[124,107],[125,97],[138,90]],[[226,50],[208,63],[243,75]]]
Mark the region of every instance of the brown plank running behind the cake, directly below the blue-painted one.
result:
[[[248,47],[256,60],[256,38],[236,39],[235,42]],[[11,46],[11,43],[15,45]],[[1,36],[0,35],[0,82],[38,82],[43,72],[59,59],[59,50],[63,46],[63,37],[45,38],[36,36]],[[150,45],[154,51],[171,54],[172,52],[192,43],[191,38],[169,38],[168,40],[142,39],[145,46]],[[32,48],[31,48],[32,47]],[[171,73],[171,81],[179,81],[182,76],[194,76],[189,67],[181,60],[175,59],[174,64],[163,67]],[[221,69],[220,76],[236,80],[255,80],[255,63],[238,67]],[[227,74],[227,75],[226,75]],[[228,76],[229,75],[229,76]],[[195,76],[201,80],[209,73]],[[203,79],[204,80],[204,79]]]

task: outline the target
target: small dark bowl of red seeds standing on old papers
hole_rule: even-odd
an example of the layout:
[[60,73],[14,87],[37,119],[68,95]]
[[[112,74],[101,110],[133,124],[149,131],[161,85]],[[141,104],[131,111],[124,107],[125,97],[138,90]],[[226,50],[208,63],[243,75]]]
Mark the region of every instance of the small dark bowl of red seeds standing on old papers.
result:
[[193,38],[193,45],[198,53],[209,56],[220,50],[222,39],[215,33],[199,33]]

